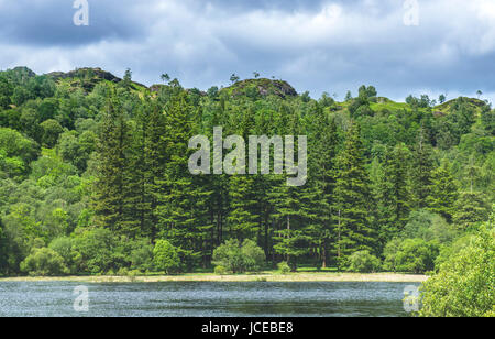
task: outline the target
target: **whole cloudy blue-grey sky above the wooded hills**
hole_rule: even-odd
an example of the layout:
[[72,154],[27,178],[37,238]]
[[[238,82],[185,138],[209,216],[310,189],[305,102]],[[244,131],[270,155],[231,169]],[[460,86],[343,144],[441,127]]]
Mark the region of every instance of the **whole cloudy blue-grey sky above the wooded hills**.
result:
[[0,68],[129,67],[200,89],[258,72],[314,97],[366,84],[495,102],[494,0],[87,0],[88,26],[74,1],[0,0]]

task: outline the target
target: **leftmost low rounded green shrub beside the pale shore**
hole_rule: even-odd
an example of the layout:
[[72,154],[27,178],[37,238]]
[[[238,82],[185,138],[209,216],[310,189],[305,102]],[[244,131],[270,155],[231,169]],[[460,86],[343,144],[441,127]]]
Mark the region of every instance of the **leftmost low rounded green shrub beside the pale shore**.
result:
[[31,254],[21,263],[21,271],[30,275],[65,275],[69,270],[64,259],[54,250],[33,249]]

